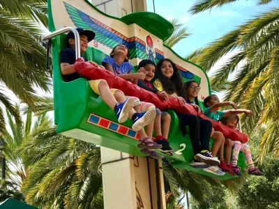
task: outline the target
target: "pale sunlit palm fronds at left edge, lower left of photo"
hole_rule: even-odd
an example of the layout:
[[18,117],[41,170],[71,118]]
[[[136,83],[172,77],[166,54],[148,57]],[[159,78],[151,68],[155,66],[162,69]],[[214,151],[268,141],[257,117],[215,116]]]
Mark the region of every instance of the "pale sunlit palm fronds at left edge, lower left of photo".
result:
[[[15,105],[14,110],[17,115],[20,115],[19,106]],[[24,157],[20,155],[17,148],[20,147],[24,140],[29,139],[31,132],[31,111],[27,114],[27,119],[24,123],[18,123],[13,119],[13,116],[6,111],[8,118],[8,125],[6,125],[6,132],[2,132],[0,135],[1,144],[3,144],[3,150],[1,157],[5,160],[5,164],[2,165],[6,178],[1,183],[1,200],[3,201],[8,196],[24,201],[22,196],[21,187],[27,176],[27,167],[24,163]],[[20,118],[22,121],[22,118]],[[3,176],[2,176],[3,177]]]

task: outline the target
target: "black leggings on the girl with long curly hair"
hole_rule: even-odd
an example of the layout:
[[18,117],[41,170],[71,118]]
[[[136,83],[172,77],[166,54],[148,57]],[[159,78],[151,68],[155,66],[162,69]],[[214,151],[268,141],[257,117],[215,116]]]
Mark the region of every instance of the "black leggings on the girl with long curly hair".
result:
[[209,150],[209,140],[212,131],[211,121],[204,120],[192,114],[183,114],[182,118],[183,125],[188,125],[189,127],[189,135],[194,155],[201,150]]

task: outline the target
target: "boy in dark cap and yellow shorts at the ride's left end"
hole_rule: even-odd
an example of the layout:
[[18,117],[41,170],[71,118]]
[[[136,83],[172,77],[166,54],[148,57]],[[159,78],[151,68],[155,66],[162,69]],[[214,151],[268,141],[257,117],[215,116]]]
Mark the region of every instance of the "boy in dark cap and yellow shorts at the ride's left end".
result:
[[[97,63],[93,61],[87,61],[82,54],[86,52],[88,48],[88,42],[93,40],[95,33],[93,31],[76,29],[80,34],[80,53],[84,61],[91,63],[98,67]],[[80,78],[80,74],[75,71],[75,36],[73,32],[69,32],[67,35],[68,47],[61,51],[60,55],[60,67],[65,82],[72,82],[75,79]],[[100,95],[102,100],[116,112],[116,118],[119,123],[123,123],[127,118],[133,117],[133,130],[139,131],[140,138],[147,137],[143,127],[152,123],[155,118],[155,114],[152,111],[146,111],[144,113],[136,113],[133,109],[134,100],[126,97],[124,93],[118,89],[110,88],[104,79],[90,80],[89,84],[92,90]]]

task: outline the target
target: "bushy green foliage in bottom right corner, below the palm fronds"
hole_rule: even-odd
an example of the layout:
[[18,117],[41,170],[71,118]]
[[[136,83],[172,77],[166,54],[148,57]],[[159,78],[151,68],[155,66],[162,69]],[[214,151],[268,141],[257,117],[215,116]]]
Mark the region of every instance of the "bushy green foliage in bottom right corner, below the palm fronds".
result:
[[[265,128],[261,128],[252,134],[249,142],[252,156],[256,155],[264,132]],[[243,183],[239,184],[234,191],[229,191],[225,187],[213,187],[204,201],[191,198],[192,208],[278,208],[279,161],[271,155],[266,156],[260,169],[264,171],[264,176],[247,176],[245,171]]]

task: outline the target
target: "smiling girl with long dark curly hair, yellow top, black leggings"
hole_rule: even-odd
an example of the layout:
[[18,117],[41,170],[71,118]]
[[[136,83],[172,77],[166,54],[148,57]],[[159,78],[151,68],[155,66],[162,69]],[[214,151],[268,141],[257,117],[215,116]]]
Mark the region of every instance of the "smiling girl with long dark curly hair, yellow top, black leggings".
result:
[[[179,100],[181,106],[186,104],[186,91],[179,70],[170,59],[161,59],[156,67],[156,81],[154,86],[158,91],[165,91],[168,96]],[[217,166],[220,161],[209,153],[209,140],[212,123],[192,114],[179,114],[179,125],[183,137],[186,135],[186,125],[189,127],[190,141],[193,147],[194,160],[190,165],[195,168]]]

